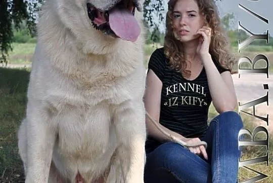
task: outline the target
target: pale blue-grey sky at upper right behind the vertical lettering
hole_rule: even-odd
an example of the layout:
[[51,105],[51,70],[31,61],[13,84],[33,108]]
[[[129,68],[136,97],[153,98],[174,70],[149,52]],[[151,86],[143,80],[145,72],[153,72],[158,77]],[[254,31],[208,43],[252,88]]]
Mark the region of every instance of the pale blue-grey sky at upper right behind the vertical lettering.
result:
[[[233,26],[235,29],[238,29],[238,22],[240,21],[241,24],[252,33],[262,34],[268,30],[271,35],[273,34],[272,0],[221,0],[216,4],[220,15],[234,12],[236,20]],[[268,24],[240,8],[239,4],[267,19]]]

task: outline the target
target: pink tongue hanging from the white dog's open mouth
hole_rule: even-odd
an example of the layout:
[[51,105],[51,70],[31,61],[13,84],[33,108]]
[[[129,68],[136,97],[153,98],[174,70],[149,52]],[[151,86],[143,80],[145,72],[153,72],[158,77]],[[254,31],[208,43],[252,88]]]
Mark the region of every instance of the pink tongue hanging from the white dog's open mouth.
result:
[[127,9],[114,8],[110,11],[109,24],[116,35],[123,40],[134,42],[141,32],[139,23]]

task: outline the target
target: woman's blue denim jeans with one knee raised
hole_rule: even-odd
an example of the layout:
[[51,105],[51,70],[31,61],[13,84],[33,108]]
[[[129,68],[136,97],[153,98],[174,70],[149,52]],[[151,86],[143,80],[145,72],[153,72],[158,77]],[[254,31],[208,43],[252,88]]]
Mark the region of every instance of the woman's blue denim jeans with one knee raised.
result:
[[235,183],[241,151],[238,134],[243,128],[236,112],[225,112],[211,120],[202,141],[207,142],[208,160],[183,146],[166,142],[147,154],[145,183]]

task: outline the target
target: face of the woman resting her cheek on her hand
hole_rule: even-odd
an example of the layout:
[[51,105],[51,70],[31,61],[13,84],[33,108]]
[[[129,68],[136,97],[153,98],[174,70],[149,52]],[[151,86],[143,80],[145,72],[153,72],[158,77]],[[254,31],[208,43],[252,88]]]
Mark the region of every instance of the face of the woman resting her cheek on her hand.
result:
[[194,35],[204,25],[195,0],[178,0],[173,9],[174,36],[181,42],[189,42],[200,35]]

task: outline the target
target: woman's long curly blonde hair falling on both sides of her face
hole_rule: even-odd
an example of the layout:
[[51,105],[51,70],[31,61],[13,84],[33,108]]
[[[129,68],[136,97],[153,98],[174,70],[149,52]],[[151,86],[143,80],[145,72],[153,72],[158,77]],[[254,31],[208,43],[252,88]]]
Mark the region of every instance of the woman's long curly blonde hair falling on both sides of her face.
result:
[[[170,66],[176,71],[181,72],[183,76],[189,77],[190,70],[186,70],[187,62],[183,45],[174,35],[174,27],[172,25],[173,9],[178,0],[170,0],[168,2],[168,12],[166,16],[166,33],[164,38],[164,48],[166,57],[169,59]],[[205,18],[206,23],[211,28],[211,42],[209,53],[212,58],[222,67],[232,71],[236,61],[230,47],[230,40],[225,34],[219,18],[217,7],[213,0],[195,0],[200,13]]]

